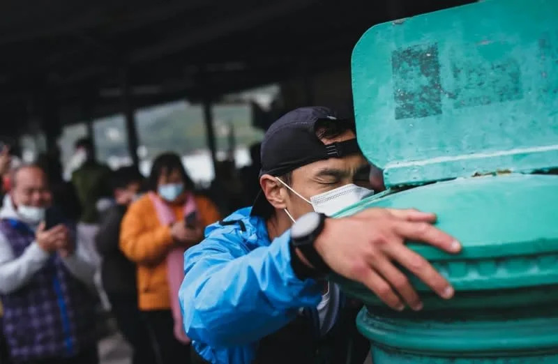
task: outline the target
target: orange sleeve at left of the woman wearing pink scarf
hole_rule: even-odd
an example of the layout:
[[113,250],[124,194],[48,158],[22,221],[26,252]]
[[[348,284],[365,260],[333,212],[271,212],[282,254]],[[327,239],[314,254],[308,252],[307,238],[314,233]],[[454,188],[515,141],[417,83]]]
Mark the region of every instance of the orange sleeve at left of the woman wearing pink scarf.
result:
[[[172,247],[170,227],[161,225],[156,229],[146,229],[148,216],[142,213],[142,204],[132,204],[120,227],[120,249],[137,264],[151,264],[163,259]],[[157,218],[153,215],[149,218]]]

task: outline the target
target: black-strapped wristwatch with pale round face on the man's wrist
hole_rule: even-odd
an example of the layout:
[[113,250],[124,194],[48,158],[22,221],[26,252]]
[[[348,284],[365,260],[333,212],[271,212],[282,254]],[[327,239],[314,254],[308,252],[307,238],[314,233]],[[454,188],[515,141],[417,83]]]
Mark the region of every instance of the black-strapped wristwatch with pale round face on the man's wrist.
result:
[[[314,246],[316,238],[324,229],[325,222],[326,215],[311,212],[296,220],[291,228],[292,248],[298,248],[306,260],[315,268],[315,271],[321,274],[331,271]],[[298,259],[298,257],[293,257],[293,259]]]

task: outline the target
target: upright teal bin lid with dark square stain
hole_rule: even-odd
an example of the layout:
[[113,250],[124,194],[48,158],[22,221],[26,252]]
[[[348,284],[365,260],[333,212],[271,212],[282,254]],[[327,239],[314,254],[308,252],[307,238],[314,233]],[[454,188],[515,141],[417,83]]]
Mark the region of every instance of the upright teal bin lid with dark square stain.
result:
[[558,167],[558,1],[373,26],[352,54],[359,144],[387,186]]

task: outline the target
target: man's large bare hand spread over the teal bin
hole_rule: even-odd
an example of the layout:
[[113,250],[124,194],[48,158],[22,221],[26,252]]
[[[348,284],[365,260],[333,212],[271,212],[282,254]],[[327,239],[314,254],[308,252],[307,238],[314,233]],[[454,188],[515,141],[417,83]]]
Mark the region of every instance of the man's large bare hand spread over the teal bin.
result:
[[421,310],[416,291],[394,263],[407,268],[439,296],[453,296],[448,281],[405,246],[406,240],[422,241],[459,252],[461,246],[455,238],[432,226],[435,220],[432,213],[371,208],[348,218],[326,220],[315,248],[333,271],[363,283],[391,308],[403,310],[403,300],[413,310]]

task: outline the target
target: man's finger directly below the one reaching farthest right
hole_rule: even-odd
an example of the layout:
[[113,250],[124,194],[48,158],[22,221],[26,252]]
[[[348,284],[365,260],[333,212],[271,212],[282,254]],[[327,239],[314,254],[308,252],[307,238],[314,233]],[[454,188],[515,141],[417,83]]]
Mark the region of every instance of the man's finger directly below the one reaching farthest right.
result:
[[400,244],[393,244],[388,254],[425,282],[428,287],[432,288],[442,298],[447,299],[453,296],[453,287],[451,287],[446,278],[442,277],[421,255]]

